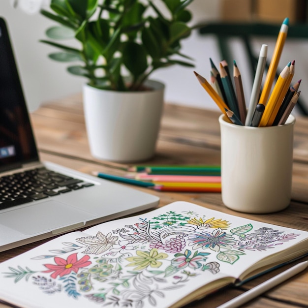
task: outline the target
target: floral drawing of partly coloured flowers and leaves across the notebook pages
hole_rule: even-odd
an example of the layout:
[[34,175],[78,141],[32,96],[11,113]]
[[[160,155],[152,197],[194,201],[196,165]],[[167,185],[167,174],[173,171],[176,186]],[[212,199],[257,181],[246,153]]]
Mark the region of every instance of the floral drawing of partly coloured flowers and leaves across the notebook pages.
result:
[[158,307],[168,292],[185,290],[196,277],[216,275],[222,264],[231,267],[250,251],[273,250],[298,236],[194,211],[119,224],[32,257],[35,269],[21,264],[2,274],[50,296],[83,297],[99,307]]

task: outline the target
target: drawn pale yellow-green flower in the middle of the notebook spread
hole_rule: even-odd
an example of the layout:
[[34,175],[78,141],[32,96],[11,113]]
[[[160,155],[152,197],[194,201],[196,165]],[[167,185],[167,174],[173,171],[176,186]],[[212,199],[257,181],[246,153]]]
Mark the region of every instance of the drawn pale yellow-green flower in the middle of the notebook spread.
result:
[[156,248],[151,249],[150,252],[137,250],[136,254],[138,256],[126,258],[128,262],[131,262],[127,266],[136,266],[134,268],[134,271],[144,270],[149,265],[154,268],[160,267],[162,262],[158,260],[165,259],[168,257],[166,253],[158,253]]

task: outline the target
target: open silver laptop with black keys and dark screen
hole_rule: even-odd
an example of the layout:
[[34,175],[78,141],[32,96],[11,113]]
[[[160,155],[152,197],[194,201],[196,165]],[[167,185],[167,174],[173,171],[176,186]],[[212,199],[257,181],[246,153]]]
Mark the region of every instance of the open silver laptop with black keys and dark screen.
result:
[[0,18],[0,251],[148,210],[159,198],[39,160]]

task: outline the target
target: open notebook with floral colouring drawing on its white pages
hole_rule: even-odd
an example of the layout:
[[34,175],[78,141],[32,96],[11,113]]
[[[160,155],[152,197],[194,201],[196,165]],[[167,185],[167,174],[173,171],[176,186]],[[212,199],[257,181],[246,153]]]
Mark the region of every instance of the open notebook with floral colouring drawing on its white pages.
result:
[[181,307],[308,253],[308,232],[174,202],[72,232],[0,264],[25,308]]

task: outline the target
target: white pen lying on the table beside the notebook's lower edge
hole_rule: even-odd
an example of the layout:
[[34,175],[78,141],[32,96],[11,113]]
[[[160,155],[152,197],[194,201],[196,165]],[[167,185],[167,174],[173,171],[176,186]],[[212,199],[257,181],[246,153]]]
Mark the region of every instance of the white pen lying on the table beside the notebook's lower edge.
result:
[[285,280],[299,274],[300,272],[304,271],[308,267],[308,261],[301,262],[293,267],[289,268],[288,270],[278,274],[267,281],[262,282],[258,286],[246,291],[245,293],[235,297],[234,299],[230,300],[229,302],[218,306],[217,308],[237,308],[241,305],[251,301],[252,299],[256,298],[257,296],[265,293],[266,291],[274,288],[278,284],[284,282]]

